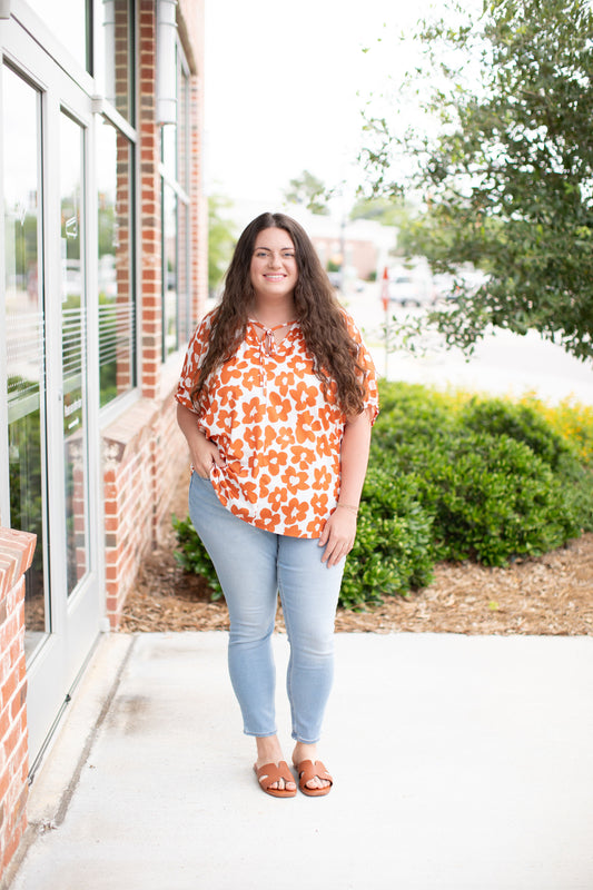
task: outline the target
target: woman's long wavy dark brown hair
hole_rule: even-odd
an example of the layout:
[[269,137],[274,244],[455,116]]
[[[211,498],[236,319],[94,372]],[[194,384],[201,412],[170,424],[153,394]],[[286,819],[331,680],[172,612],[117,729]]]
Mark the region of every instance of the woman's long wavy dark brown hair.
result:
[[245,338],[255,290],[250,267],[256,238],[264,229],[288,233],[295,245],[298,279],[294,299],[307,350],[315,360],[315,373],[327,397],[333,384],[346,416],[364,411],[365,369],[358,362],[358,346],[346,326],[344,313],[307,233],[285,214],[261,214],[241,234],[225,278],[225,289],[215,310],[208,352],[191,389],[191,400],[199,406],[208,376],[228,362]]

